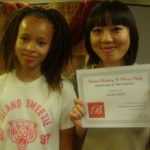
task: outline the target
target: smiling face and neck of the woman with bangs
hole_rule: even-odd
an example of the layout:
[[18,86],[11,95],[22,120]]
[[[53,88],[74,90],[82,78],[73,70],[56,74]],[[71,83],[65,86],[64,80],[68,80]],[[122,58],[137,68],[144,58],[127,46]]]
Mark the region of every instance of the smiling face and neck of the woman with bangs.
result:
[[96,26],[90,32],[93,51],[104,67],[124,65],[130,46],[129,29],[123,25]]

